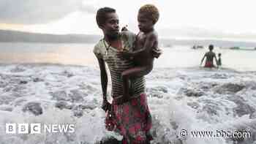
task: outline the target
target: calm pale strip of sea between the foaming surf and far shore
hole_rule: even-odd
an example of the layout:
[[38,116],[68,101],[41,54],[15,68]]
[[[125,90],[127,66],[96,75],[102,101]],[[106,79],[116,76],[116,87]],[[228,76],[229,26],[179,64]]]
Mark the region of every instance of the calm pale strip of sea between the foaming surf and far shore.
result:
[[[92,53],[93,48],[93,44],[1,42],[0,63],[49,63],[97,67],[97,59]],[[199,67],[208,48],[194,50],[190,45],[173,45],[162,50],[164,53],[156,59],[154,67],[186,68]],[[256,70],[254,62],[256,50],[230,50],[217,47],[214,48],[214,52],[222,53],[222,67],[238,71]]]

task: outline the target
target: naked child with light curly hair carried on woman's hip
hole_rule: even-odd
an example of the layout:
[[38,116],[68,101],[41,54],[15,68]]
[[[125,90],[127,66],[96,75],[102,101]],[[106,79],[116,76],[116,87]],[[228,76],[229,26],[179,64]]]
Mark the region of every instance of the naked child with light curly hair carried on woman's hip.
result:
[[133,50],[124,51],[124,56],[132,57],[135,61],[135,67],[122,72],[123,84],[124,84],[124,98],[130,99],[129,83],[136,77],[142,77],[148,75],[153,69],[154,58],[158,56],[154,55],[156,51],[161,53],[158,48],[158,35],[154,30],[154,25],[159,19],[159,10],[153,4],[146,4],[140,7],[138,12],[138,26],[139,33],[135,38]]

